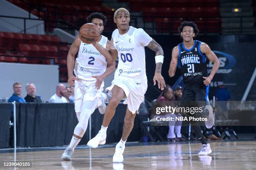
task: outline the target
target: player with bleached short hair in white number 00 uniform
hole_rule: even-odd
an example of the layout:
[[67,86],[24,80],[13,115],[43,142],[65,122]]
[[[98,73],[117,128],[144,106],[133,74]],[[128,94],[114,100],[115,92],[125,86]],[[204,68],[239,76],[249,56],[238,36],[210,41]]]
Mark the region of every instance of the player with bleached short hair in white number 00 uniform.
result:
[[161,90],[165,87],[164,78],[161,75],[164,53],[162,47],[143,29],[129,26],[130,14],[125,8],[119,8],[115,11],[114,22],[118,29],[114,30],[112,34],[110,53],[112,57],[118,57],[119,62],[112,85],[106,88],[106,91],[112,97],[107,106],[99,133],[87,145],[96,148],[99,144],[105,143],[106,131],[110,120],[115,114],[115,108],[120,100],[125,98],[123,103],[127,104],[127,110],[123,135],[116,145],[113,156],[114,163],[121,163],[123,162],[125,142],[131,133],[134,118],[147,90],[145,46],[156,52],[156,71],[153,81],[154,85],[156,81],[158,82],[158,87]]

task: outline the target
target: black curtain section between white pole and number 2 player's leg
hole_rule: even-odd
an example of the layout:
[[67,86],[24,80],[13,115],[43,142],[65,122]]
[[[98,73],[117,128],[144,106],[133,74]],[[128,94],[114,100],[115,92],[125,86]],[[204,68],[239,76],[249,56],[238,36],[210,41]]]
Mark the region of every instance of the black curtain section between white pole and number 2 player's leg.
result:
[[67,145],[78,123],[69,103],[21,103],[17,111],[20,147]]

